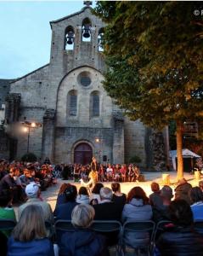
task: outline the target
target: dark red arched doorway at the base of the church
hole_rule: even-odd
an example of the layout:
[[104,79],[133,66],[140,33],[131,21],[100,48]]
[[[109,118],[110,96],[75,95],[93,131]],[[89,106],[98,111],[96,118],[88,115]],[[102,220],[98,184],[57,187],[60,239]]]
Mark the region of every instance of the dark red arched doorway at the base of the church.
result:
[[80,143],[74,149],[74,163],[87,165],[91,163],[93,149],[87,143]]

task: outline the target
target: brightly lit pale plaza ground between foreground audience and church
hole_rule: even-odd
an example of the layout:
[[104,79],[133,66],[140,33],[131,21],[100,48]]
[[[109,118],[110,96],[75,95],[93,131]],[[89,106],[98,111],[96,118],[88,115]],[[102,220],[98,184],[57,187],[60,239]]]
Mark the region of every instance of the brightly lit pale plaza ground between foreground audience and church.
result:
[[[177,172],[164,172],[166,174],[170,175],[170,181],[171,181],[171,187],[172,189],[175,189],[177,184],[176,184],[176,176]],[[160,183],[162,187],[162,174],[163,172],[143,172],[144,177],[145,177],[145,182],[132,182],[132,183],[121,183],[121,192],[123,193],[128,193],[130,189],[132,189],[134,186],[140,186],[144,189],[147,195],[151,194],[151,189],[150,189],[150,183],[153,181]],[[189,183],[192,184],[192,186],[198,186],[199,180],[195,180],[194,175],[185,172],[184,177],[189,181]],[[203,175],[201,177],[203,179]],[[48,203],[51,205],[52,209],[54,210],[55,204],[56,204],[56,198],[59,192],[59,187],[62,183],[73,183],[72,180],[62,180],[58,179],[58,183],[56,185],[53,185],[49,187],[46,191],[42,192],[42,197],[44,200],[48,201]],[[81,184],[80,183],[74,183],[77,187],[77,189],[80,188]],[[104,186],[110,187],[111,183],[104,183]]]

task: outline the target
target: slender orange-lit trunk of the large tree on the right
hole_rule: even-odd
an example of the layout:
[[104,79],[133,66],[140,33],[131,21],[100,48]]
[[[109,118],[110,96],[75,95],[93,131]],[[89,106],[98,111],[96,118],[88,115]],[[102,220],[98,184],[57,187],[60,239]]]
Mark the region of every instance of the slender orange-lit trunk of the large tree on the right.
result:
[[178,156],[177,180],[179,180],[180,178],[183,178],[183,122],[181,121],[177,121],[176,141]]

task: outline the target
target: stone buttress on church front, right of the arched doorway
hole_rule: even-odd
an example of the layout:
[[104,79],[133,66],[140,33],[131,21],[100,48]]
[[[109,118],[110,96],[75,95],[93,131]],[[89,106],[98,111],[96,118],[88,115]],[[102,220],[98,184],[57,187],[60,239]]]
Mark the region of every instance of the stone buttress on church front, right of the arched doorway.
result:
[[113,163],[124,163],[124,119],[122,113],[113,113],[114,135],[113,135]]

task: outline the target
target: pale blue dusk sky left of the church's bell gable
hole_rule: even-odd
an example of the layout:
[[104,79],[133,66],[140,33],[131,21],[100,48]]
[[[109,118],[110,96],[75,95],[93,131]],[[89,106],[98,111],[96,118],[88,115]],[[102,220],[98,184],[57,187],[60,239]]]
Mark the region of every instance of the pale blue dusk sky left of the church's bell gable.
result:
[[20,78],[46,65],[51,45],[49,21],[83,6],[83,1],[0,0],[0,79]]

